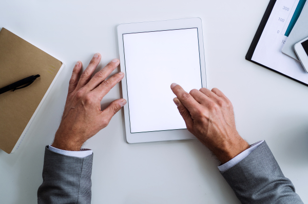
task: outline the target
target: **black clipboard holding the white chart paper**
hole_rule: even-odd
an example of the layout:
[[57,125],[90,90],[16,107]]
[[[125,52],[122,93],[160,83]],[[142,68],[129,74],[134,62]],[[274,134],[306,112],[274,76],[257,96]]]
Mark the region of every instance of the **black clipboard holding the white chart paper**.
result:
[[281,52],[288,37],[287,33],[290,33],[292,27],[290,22],[300,1],[303,0],[269,2],[245,58],[308,86],[308,73],[300,62]]

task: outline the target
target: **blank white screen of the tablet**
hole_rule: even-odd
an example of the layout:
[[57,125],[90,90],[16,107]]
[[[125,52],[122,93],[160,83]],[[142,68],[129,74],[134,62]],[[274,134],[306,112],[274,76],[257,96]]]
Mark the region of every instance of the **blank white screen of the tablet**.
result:
[[170,85],[202,87],[198,29],[123,34],[130,132],[186,129]]

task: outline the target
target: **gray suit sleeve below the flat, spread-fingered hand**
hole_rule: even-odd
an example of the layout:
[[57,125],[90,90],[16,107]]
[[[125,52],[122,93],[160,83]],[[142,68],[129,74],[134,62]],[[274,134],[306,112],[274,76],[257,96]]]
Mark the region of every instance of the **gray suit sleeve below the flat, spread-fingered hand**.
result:
[[91,203],[93,154],[85,158],[45,149],[43,183],[37,191],[41,203]]

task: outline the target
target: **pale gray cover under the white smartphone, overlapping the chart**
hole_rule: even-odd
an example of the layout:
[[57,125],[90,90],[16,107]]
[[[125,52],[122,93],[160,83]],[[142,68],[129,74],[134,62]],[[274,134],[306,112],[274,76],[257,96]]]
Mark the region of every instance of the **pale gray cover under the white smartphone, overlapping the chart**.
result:
[[308,37],[308,6],[307,4],[303,8],[300,16],[297,19],[290,35],[288,36],[283,48],[282,53],[299,61],[295,51],[294,45],[300,42],[300,40]]

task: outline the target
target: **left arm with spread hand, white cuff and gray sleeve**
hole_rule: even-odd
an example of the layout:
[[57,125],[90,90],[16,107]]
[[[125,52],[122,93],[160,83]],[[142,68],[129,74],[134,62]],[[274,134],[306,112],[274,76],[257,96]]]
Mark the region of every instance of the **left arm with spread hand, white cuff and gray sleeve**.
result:
[[119,59],[113,59],[92,77],[100,61],[101,54],[94,54],[82,74],[82,63],[78,61],[74,66],[61,123],[50,146],[57,149],[45,150],[38,203],[91,203],[93,154],[79,150],[87,139],[107,127],[112,116],[126,104],[122,98],[101,109],[103,97],[122,80],[124,73],[108,77],[120,64]]

